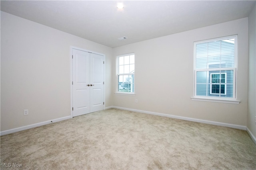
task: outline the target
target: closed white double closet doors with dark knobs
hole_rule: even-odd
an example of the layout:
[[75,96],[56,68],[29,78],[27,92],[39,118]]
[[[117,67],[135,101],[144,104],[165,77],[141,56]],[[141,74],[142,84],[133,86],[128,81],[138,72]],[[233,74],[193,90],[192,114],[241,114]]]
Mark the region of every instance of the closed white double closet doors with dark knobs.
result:
[[73,117],[104,109],[104,56],[72,49]]

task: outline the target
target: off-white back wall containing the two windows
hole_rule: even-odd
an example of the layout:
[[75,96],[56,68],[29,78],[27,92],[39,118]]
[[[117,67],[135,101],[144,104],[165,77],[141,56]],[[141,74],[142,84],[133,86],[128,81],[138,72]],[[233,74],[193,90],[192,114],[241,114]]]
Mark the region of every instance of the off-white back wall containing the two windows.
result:
[[[240,104],[192,101],[194,41],[238,35],[237,100]],[[113,94],[116,107],[246,126],[248,18],[114,48],[135,53],[135,96]],[[112,75],[116,74],[113,67]],[[113,83],[116,78],[112,78]],[[115,86],[112,87],[115,91]],[[135,103],[138,99],[138,103]]]

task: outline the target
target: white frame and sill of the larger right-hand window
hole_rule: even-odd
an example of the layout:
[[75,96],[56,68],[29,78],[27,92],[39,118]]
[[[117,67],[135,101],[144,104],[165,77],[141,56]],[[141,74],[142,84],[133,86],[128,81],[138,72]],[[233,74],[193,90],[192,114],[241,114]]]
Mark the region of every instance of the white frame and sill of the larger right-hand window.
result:
[[[212,69],[196,69],[196,44],[198,43],[206,43],[206,42],[210,42],[210,41],[221,41],[223,39],[231,39],[234,38],[235,39],[235,63],[234,63],[234,68],[212,68]],[[236,99],[236,95],[237,95],[237,61],[238,61],[238,36],[237,35],[232,35],[232,36],[228,36],[228,37],[221,37],[221,38],[217,38],[217,39],[209,39],[209,40],[205,40],[205,41],[196,41],[194,42],[194,97],[191,97],[191,100],[197,100],[197,101],[205,101],[205,102],[221,102],[221,103],[230,103],[230,104],[239,104],[240,101]],[[233,81],[234,81],[234,85],[233,85],[233,98],[224,98],[224,97],[209,97],[209,96],[196,96],[196,72],[197,71],[210,71],[210,70],[234,70],[234,77],[233,77]],[[226,90],[226,87],[225,87]]]

